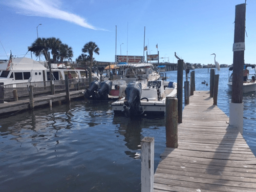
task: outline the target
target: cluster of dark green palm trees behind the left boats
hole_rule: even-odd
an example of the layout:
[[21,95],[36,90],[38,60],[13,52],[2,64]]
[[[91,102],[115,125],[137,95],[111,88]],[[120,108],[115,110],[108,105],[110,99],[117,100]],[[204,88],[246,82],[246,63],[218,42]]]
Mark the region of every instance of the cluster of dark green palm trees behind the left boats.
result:
[[[37,38],[31,46],[44,48],[44,51],[42,52],[38,50],[32,52],[36,56],[43,54],[46,60],[48,60],[47,53],[51,51],[51,54],[53,55],[53,63],[56,63],[56,61],[63,62],[64,59],[72,60],[71,57],[73,57],[72,47],[69,47],[67,44],[63,44],[59,38]],[[90,66],[92,66],[92,63],[95,59],[93,57],[94,53],[99,55],[99,48],[95,42],[90,41],[83,46],[82,54],[76,58],[76,62],[84,64],[89,62]]]

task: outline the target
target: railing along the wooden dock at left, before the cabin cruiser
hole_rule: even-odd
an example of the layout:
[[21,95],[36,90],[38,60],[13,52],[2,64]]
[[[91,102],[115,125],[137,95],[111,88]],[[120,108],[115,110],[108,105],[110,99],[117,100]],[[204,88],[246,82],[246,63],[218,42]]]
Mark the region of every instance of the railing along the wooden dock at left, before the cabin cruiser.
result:
[[[95,79],[97,78],[93,78],[93,80]],[[61,92],[66,90],[65,80],[55,80],[53,81],[53,85],[55,92]],[[14,100],[14,90],[17,91],[18,97],[29,96],[29,86],[33,86],[34,95],[51,93],[51,81],[14,83],[4,85],[4,99],[9,101]],[[69,79],[70,91],[82,90],[86,89],[86,87],[89,87],[89,78]]]

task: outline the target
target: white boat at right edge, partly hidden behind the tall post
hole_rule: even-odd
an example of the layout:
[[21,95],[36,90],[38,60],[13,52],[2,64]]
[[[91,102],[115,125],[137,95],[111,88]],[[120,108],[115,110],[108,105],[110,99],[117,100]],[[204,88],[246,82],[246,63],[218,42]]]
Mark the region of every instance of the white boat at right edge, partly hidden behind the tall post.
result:
[[[256,68],[254,65],[245,65],[248,70],[249,74],[247,74],[247,81],[243,82],[243,93],[249,93],[249,92],[254,92],[256,91]],[[232,73],[230,72],[233,70],[233,67],[229,68],[229,73],[228,73],[228,91],[232,91]],[[254,78],[254,81],[252,80]]]

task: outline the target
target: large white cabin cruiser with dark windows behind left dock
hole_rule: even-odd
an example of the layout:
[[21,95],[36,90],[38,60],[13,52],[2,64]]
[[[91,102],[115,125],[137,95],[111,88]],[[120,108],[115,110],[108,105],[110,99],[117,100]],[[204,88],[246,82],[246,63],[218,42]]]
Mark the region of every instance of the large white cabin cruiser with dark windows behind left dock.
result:
[[[46,61],[35,61],[27,57],[11,58],[10,61],[0,63],[0,82],[4,85],[50,81],[50,70]],[[69,78],[79,79],[86,74],[85,70],[58,69],[57,64],[52,64],[51,67],[53,81],[64,80],[65,74]]]

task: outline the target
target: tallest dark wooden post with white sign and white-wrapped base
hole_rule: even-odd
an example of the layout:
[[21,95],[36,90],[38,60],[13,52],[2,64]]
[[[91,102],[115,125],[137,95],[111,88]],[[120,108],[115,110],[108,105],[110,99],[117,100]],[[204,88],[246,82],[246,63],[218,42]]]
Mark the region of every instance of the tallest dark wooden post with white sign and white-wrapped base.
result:
[[237,126],[243,134],[243,69],[245,50],[246,4],[236,6],[233,44],[232,97],[229,109],[229,124]]

